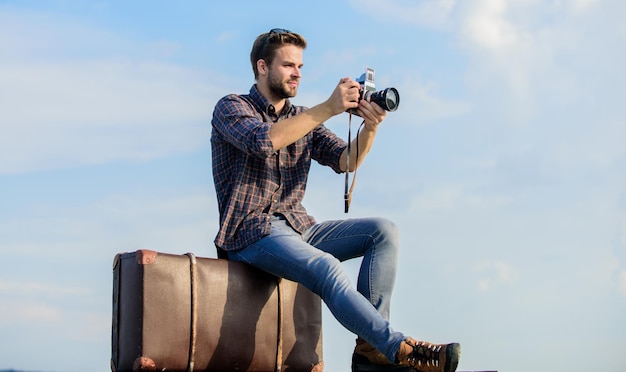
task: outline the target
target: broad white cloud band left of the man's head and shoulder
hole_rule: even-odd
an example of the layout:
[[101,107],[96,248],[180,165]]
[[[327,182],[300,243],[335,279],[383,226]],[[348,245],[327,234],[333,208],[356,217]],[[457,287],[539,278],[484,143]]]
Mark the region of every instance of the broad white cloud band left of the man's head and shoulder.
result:
[[145,159],[206,144],[210,94],[173,66],[21,63],[0,70],[0,172]]

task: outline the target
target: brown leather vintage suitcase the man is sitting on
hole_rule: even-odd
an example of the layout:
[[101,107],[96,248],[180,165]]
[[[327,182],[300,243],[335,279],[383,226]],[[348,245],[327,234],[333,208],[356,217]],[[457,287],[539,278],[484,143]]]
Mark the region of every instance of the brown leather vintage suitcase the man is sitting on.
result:
[[121,253],[111,369],[322,371],[321,300],[238,262]]

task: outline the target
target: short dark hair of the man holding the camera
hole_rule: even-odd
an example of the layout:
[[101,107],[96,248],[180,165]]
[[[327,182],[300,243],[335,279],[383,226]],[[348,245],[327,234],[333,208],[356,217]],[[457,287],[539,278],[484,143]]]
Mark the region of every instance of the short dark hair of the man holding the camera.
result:
[[263,59],[268,65],[271,65],[276,49],[285,45],[295,45],[305,49],[306,40],[295,32],[280,28],[262,33],[256,38],[254,44],[252,44],[252,51],[250,51],[250,63],[252,63],[252,71],[254,71],[255,79],[259,77],[256,62],[259,59]]

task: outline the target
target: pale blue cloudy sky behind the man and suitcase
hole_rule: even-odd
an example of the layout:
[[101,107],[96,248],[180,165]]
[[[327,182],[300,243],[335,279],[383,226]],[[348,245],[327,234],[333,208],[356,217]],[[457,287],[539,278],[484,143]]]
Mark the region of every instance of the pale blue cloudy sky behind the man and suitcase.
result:
[[[400,227],[394,327],[461,342],[459,369],[623,371],[625,13],[0,0],[0,368],[108,371],[114,255],[215,256],[213,106],[249,90],[252,41],[281,27],[309,42],[295,103],[367,66],[400,91],[348,215]],[[305,205],[346,217],[343,176],[314,167]],[[347,371],[354,336],[324,317],[326,369]]]

